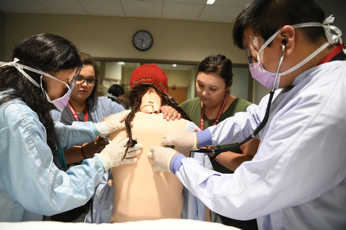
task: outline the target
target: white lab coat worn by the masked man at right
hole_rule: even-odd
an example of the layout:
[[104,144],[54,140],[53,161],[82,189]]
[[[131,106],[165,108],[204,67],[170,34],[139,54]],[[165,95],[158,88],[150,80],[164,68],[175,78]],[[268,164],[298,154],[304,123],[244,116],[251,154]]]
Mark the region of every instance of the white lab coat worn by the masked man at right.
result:
[[[311,68],[293,86],[274,99],[252,161],[221,174],[186,158],[176,176],[212,211],[257,218],[260,229],[346,229],[346,62]],[[249,136],[267,100],[209,127],[212,144]]]

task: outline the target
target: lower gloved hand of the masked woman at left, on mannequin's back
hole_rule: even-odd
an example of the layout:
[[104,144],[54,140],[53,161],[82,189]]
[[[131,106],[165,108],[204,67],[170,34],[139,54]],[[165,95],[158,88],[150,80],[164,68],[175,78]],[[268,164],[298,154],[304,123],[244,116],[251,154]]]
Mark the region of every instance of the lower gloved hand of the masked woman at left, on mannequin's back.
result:
[[[132,139],[136,140],[137,136],[133,135]],[[95,156],[97,156],[100,162],[103,164],[106,171],[108,171],[108,169],[111,167],[116,167],[120,164],[133,164],[137,162],[137,158],[132,157],[140,153],[140,148],[143,147],[142,144],[135,144],[134,147],[129,148],[126,158],[122,159],[125,154],[128,140],[128,138],[122,140],[122,137],[119,137],[112,141],[112,143],[107,144],[106,148],[104,148],[100,153],[95,154]]]

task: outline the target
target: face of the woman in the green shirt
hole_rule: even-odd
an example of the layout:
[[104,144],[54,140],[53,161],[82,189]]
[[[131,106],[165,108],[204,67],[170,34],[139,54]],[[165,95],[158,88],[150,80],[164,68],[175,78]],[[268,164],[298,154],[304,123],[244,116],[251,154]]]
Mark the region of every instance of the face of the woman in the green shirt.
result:
[[199,72],[196,80],[196,91],[199,99],[206,106],[216,106],[225,98],[225,80],[216,73]]

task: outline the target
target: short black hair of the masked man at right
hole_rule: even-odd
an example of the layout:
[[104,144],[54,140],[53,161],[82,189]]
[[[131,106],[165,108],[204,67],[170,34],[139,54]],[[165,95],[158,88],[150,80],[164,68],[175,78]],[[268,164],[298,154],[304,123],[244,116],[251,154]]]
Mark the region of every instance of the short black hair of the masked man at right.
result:
[[[253,0],[238,15],[233,28],[235,46],[244,49],[243,32],[250,29],[255,35],[268,40],[286,25],[319,22],[325,19],[322,7],[315,0]],[[324,31],[321,27],[300,28],[314,42]]]

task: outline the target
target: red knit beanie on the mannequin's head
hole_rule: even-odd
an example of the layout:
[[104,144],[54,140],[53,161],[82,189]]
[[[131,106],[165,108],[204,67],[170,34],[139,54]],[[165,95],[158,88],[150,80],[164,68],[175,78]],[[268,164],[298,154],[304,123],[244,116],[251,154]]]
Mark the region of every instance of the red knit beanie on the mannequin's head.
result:
[[167,75],[155,64],[139,66],[133,71],[130,78],[130,89],[139,84],[150,84],[168,96]]

